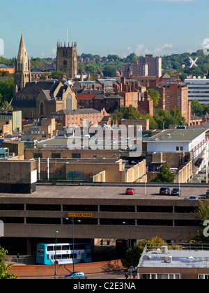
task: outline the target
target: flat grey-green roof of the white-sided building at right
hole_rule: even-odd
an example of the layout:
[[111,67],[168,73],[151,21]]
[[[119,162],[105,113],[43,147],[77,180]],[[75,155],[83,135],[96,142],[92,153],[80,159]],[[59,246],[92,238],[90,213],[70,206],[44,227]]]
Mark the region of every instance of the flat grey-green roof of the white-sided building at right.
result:
[[144,140],[144,142],[191,142],[192,140],[195,140],[196,137],[199,137],[199,135],[206,133],[206,131],[206,128],[167,129],[161,133],[157,133],[153,137]]

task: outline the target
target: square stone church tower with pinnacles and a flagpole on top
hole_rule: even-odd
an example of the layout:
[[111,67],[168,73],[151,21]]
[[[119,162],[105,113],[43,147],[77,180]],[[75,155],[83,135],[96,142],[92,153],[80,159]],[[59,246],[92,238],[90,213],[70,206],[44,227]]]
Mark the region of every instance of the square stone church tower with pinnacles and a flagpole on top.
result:
[[68,77],[74,78],[77,75],[77,43],[73,42],[62,45],[57,43],[56,50],[56,71],[62,71]]

